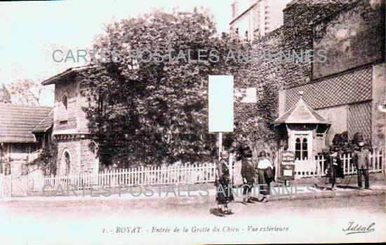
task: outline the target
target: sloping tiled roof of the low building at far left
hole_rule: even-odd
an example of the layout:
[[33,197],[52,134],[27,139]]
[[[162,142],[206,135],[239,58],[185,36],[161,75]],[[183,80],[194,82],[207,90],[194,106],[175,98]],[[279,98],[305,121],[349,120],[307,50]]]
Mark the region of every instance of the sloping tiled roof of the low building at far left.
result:
[[33,142],[32,130],[51,109],[48,106],[0,104],[0,142]]

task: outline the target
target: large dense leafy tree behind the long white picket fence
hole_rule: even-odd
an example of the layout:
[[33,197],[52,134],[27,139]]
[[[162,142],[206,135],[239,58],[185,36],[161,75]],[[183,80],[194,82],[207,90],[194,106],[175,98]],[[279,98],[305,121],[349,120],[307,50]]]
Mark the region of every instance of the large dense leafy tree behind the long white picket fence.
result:
[[[140,135],[140,141],[152,146],[145,150],[149,151],[147,162],[213,159],[217,137],[207,133],[208,76],[234,75],[235,83],[246,85],[248,63],[225,57],[229,50],[251,49],[251,43],[233,34],[219,36],[211,15],[205,11],[156,11],[107,26],[94,49],[108,50],[107,57],[114,61],[103,62],[102,57],[96,57],[93,68],[81,74],[87,84],[81,94],[89,98],[85,106],[89,126],[100,144],[127,149],[131,148],[127,142]],[[187,62],[180,56],[177,62],[139,62],[130,55],[131,50],[171,49],[182,50],[186,59],[188,50],[192,51],[192,59],[198,59],[199,49],[207,52],[201,57],[204,62]],[[121,59],[114,60],[113,52],[117,50]],[[208,55],[210,50],[217,50],[218,62]],[[175,56],[180,55],[178,51]],[[267,92],[265,104],[256,108],[237,106],[236,132],[247,132],[256,139],[265,139],[265,134],[271,137],[267,122],[273,117],[269,111],[274,106],[269,102],[272,97],[272,91]],[[256,114],[259,109],[261,112]]]

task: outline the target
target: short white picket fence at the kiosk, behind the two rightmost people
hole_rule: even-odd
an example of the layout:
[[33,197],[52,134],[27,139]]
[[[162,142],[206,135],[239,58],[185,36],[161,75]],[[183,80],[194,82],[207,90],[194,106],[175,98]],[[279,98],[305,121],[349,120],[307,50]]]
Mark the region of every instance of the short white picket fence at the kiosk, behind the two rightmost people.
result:
[[[382,152],[374,150],[373,153],[368,153],[368,156],[370,158],[370,172],[382,172],[382,163],[385,162],[382,160]],[[345,175],[357,174],[352,155],[344,154],[340,160],[342,160]],[[316,156],[314,160],[295,160],[295,179],[325,176],[325,161],[323,155]]]

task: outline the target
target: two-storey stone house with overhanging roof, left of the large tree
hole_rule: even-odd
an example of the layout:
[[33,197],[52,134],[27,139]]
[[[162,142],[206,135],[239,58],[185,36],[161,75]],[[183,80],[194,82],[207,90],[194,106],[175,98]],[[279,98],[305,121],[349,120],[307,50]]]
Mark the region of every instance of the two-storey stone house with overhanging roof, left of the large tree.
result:
[[87,66],[67,69],[43,85],[55,84],[53,137],[58,142],[58,174],[87,174],[98,172],[98,146],[91,139],[86,113],[87,102],[82,96],[79,73]]

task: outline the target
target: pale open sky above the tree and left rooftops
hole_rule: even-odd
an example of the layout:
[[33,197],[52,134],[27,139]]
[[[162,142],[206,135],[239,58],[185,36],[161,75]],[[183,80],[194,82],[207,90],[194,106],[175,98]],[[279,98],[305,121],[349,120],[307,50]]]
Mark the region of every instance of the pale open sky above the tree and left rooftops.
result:
[[[44,80],[84,63],[54,62],[53,51],[91,48],[103,25],[163,8],[208,8],[219,32],[231,21],[231,0],[67,0],[0,2],[0,85]],[[47,91],[41,104],[52,106]]]

